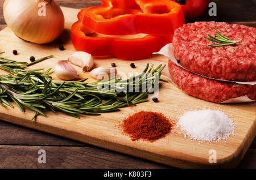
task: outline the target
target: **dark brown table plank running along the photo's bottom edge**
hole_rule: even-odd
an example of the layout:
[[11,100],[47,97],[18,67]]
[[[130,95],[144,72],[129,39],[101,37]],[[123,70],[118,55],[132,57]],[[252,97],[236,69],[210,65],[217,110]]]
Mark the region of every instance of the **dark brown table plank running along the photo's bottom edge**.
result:
[[[46,164],[38,151],[46,151]],[[139,158],[92,147],[0,145],[0,168],[170,168]]]

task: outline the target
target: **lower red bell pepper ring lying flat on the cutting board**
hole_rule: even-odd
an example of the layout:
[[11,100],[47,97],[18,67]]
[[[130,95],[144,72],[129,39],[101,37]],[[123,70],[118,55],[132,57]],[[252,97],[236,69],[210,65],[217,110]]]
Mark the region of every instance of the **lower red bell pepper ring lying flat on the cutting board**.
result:
[[121,59],[148,58],[172,41],[172,35],[146,35],[142,38],[90,37],[93,32],[82,24],[82,17],[89,8],[84,8],[77,15],[79,20],[72,25],[72,43],[76,50],[94,56],[114,56]]

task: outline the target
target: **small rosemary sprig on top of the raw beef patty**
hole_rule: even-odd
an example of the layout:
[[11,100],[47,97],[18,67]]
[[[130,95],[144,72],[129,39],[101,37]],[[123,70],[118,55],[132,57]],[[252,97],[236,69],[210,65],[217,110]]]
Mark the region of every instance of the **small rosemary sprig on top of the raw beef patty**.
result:
[[242,41],[242,38],[238,41],[234,41],[224,35],[222,35],[222,33],[220,31],[218,31],[215,27],[213,27],[216,31],[216,35],[215,36],[210,36],[209,37],[204,37],[210,41],[214,41],[214,42],[218,42],[218,44],[209,44],[208,46],[213,46],[213,47],[217,47],[217,46],[228,46],[228,45],[233,45],[236,44],[237,42]]

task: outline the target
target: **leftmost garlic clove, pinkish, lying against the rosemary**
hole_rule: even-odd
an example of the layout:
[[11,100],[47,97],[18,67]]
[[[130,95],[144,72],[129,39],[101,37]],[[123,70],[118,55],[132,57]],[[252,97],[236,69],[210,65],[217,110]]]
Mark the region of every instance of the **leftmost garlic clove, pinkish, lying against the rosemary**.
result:
[[80,78],[76,69],[69,65],[68,61],[61,60],[55,65],[55,74],[58,78],[63,80],[73,80]]

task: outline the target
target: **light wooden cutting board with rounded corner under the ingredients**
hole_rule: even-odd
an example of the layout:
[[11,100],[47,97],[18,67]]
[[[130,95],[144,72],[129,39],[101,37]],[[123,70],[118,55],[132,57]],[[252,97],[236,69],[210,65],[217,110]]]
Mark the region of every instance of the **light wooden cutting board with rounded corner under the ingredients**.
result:
[[[72,23],[77,20],[76,15],[79,10],[66,7],[62,9],[66,22],[65,30],[61,35],[64,41],[64,51],[58,49],[56,42],[46,45],[25,42],[16,37],[9,28],[5,28],[0,32],[0,52],[5,51],[6,53],[1,56],[27,62],[29,62],[28,59],[31,55],[36,58],[46,55],[55,56],[55,58],[30,68],[54,67],[57,61],[67,59],[69,55],[75,52],[71,43],[70,28]],[[19,54],[13,55],[13,49],[18,50]],[[139,61],[124,61],[117,58],[96,59],[96,66],[110,65],[112,62],[116,63],[118,72],[128,74],[128,72],[141,72],[146,63],[158,65],[168,62],[168,59],[162,55],[154,55]],[[134,62],[137,68],[130,68],[131,62]],[[76,69],[82,74],[81,68],[76,67]],[[0,74],[5,73],[0,70]],[[89,77],[88,73],[82,75]],[[54,74],[53,78],[57,79]],[[93,79],[88,81],[94,82]],[[132,141],[119,128],[123,118],[140,110],[151,110],[163,113],[170,118],[176,118],[189,110],[199,109],[221,109],[228,114],[230,118],[234,119],[236,125],[234,136],[220,142],[199,143],[185,138],[179,130],[174,129],[174,133],[150,143],[142,140]],[[160,87],[158,103],[150,100],[150,102],[137,106],[122,108],[120,112],[105,113],[96,117],[80,115],[80,119],[62,113],[47,112],[47,117],[39,115],[34,122],[30,120],[34,115],[31,110],[27,109],[26,113],[22,113],[16,106],[14,109],[0,106],[0,119],[179,168],[234,168],[241,161],[255,137],[255,109],[255,102],[229,105],[214,104],[185,95],[172,83],[164,83]],[[216,164],[210,164],[208,161],[211,149],[216,150]]]

